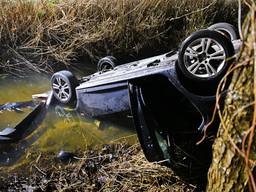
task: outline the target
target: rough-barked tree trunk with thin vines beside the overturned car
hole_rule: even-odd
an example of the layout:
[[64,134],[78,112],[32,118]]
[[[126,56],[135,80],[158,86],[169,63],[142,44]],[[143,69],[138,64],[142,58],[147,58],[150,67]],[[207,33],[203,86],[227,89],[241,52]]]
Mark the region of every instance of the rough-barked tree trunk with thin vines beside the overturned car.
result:
[[[233,73],[221,113],[221,124],[213,145],[213,160],[208,172],[207,191],[209,192],[244,191],[248,186],[251,191],[255,190],[253,176],[249,177],[255,165],[253,161],[256,159],[256,136],[254,136],[256,106],[254,102],[256,92],[254,25],[256,20],[254,14],[255,5],[252,3],[247,23],[244,24],[248,27],[245,32],[247,35],[244,39],[244,48],[237,62],[237,69]],[[247,153],[250,136],[252,145],[250,153]],[[245,160],[246,154],[249,154],[247,155],[249,161]],[[246,162],[249,162],[248,166]]]

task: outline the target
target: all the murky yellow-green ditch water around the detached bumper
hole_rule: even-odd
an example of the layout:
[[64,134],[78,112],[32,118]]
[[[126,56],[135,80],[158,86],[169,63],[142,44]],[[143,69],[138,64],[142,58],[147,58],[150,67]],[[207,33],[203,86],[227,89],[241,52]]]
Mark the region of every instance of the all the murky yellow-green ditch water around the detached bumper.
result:
[[[49,90],[49,77],[33,76],[27,79],[5,78],[0,80],[0,105],[8,102],[30,101],[31,95]],[[15,127],[33,106],[19,110],[0,111],[0,131],[6,127]],[[131,122],[121,125],[110,121],[99,121],[81,116],[61,106],[54,106],[43,122],[25,139],[14,144],[0,144],[0,169],[15,166],[28,161],[33,152],[53,152],[60,150],[80,151],[89,146],[108,144],[126,140],[136,142]]]

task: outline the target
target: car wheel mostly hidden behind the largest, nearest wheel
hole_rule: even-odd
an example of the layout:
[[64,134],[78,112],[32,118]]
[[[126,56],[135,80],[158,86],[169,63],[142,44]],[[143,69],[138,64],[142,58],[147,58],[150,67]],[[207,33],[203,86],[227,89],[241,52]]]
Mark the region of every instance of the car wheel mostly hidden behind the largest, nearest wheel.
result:
[[231,41],[239,39],[236,28],[229,23],[216,23],[208,27],[210,30],[215,30],[228,37]]

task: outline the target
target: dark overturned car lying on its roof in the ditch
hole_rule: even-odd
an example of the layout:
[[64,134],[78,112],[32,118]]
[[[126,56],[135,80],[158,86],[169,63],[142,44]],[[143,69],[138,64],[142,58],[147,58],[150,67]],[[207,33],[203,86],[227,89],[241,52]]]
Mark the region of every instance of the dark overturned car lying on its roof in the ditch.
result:
[[90,117],[132,116],[146,158],[197,181],[210,165],[218,119],[209,137],[196,143],[212,119],[217,85],[240,45],[234,27],[218,23],[194,32],[177,52],[122,65],[107,56],[97,73],[80,80],[69,71],[57,72],[53,95]]

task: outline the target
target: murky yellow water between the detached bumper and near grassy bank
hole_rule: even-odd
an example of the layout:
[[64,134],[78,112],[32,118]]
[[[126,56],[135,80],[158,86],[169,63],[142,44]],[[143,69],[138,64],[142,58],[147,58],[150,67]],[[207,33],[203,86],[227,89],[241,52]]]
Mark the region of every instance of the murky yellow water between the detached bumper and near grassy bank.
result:
[[[14,144],[0,144],[1,166],[22,160],[26,150],[54,153],[85,150],[88,146],[111,143],[135,133],[129,119],[113,124],[111,120],[87,119],[61,106],[50,108],[43,122],[35,126],[38,127],[26,139]],[[127,139],[130,143],[135,140],[135,136]]]

